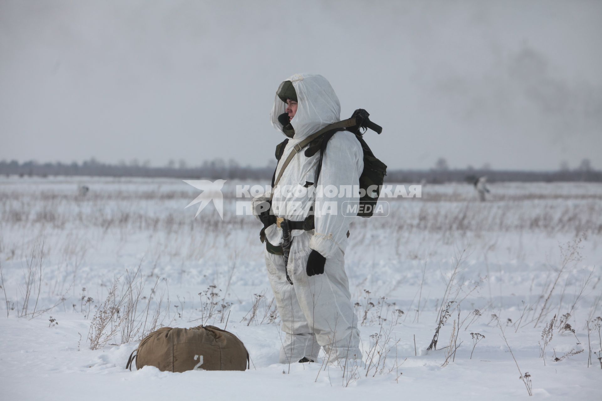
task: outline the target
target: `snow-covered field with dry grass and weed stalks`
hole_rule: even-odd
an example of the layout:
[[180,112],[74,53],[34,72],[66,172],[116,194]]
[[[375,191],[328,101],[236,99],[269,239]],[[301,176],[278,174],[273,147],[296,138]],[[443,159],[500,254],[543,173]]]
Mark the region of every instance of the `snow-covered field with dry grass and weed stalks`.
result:
[[[199,191],[181,180],[2,177],[2,400],[602,396],[602,185],[498,183],[485,203],[471,185],[426,185],[358,219],[346,266],[365,366],[343,370],[277,363],[261,227],[235,215],[236,184],[222,221],[211,204],[194,219]],[[119,317],[91,330],[111,294]],[[125,369],[160,325],[226,321],[246,372]]]

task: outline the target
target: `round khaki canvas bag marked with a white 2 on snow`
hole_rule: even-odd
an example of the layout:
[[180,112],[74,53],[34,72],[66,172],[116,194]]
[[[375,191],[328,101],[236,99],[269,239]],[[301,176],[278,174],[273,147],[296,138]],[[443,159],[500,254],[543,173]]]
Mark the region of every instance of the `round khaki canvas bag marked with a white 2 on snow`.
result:
[[134,352],[126,369],[132,369],[134,360],[136,369],[155,366],[167,372],[246,370],[249,366],[243,341],[216,326],[163,327],[144,337]]

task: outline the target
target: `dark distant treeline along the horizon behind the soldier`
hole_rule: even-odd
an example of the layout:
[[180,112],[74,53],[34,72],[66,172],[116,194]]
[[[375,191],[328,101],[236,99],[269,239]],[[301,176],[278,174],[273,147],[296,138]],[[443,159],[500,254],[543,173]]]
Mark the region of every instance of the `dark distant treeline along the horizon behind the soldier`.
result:
[[[170,164],[166,167],[151,167],[138,164],[105,164],[95,159],[81,164],[38,163],[35,161],[19,163],[17,161],[0,161],[0,174],[11,176],[104,176],[104,177],[174,177],[180,179],[240,179],[269,180],[274,173],[275,165],[266,167],[240,166],[235,162],[205,162],[199,167],[187,167],[181,163],[178,167]],[[602,171],[591,169],[558,171],[512,171],[491,169],[450,169],[433,168],[430,170],[389,170],[385,182],[444,183],[474,182],[479,177],[487,176],[488,182],[554,182],[585,181],[602,182]]]

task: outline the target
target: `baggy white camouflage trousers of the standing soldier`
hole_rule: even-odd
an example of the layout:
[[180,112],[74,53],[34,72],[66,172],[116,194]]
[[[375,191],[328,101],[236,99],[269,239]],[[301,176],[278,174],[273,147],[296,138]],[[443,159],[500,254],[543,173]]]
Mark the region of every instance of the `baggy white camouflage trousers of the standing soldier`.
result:
[[294,237],[288,258],[288,283],[284,257],[265,251],[265,265],[282,319],[280,363],[303,357],[317,361],[320,346],[328,361],[361,359],[358,318],[351,304],[343,252],[326,259],[324,274],[308,277],[305,268],[311,248],[311,231]]

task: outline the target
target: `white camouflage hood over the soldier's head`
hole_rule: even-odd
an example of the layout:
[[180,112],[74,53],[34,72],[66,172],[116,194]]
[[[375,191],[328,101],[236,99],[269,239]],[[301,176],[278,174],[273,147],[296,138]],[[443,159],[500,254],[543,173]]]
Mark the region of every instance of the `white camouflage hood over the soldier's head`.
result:
[[[297,93],[297,113],[291,120],[295,130],[293,139],[303,139],[328,124],[341,120],[341,103],[326,78],[305,73],[295,74],[285,81],[293,82]],[[279,132],[282,132],[283,127],[278,121],[278,116],[284,113],[286,108],[287,105],[275,94],[270,119]],[[284,135],[284,132],[282,134]]]

